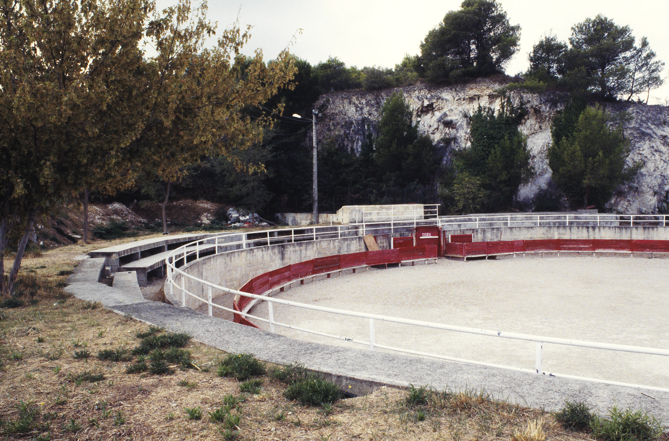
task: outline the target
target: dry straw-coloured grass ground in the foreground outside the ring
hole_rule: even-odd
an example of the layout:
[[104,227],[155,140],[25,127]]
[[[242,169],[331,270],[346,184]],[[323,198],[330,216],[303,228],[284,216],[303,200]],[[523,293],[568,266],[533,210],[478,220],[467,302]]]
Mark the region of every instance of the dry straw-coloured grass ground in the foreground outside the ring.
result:
[[[97,247],[100,244],[98,243]],[[485,393],[381,387],[332,406],[284,398],[286,385],[262,376],[260,393],[219,377],[226,354],[189,343],[193,365],[169,375],[126,373],[136,361],[106,361],[105,349],[131,350],[148,325],[69,297],[57,286],[90,246],[70,246],[26,260],[23,280],[36,304],[0,308],[0,439],[16,440],[582,440],[551,414]],[[58,275],[61,274],[61,275]],[[34,302],[34,300],[33,300]],[[88,355],[88,357],[86,357]],[[271,370],[271,369],[270,369]],[[209,412],[229,409],[235,426]],[[187,410],[201,410],[191,419]],[[21,412],[31,414],[16,432]],[[233,419],[234,421],[234,419]]]

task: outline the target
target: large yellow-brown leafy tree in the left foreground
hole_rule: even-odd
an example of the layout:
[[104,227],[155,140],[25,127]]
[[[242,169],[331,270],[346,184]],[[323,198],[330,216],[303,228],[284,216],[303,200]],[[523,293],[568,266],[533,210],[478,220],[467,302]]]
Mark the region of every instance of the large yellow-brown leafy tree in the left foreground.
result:
[[290,78],[288,54],[265,66],[258,52],[242,72],[248,33],[232,27],[204,49],[215,31],[205,11],[189,0],[162,14],[145,0],[0,4],[0,256],[11,226],[24,227],[10,286],[35,217],[66,195],[112,191],[139,171],[169,181],[262,137],[269,121],[245,110]]

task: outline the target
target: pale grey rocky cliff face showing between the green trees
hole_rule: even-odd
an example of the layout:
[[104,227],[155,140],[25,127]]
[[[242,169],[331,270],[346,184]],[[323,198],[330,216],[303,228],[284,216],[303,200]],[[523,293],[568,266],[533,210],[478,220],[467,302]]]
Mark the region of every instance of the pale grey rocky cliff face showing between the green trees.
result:
[[[320,102],[328,102],[328,108],[318,122],[318,139],[335,137],[339,145],[359,153],[367,130],[377,134],[383,102],[401,90],[414,111],[419,130],[436,143],[446,162],[449,147],[457,150],[470,147],[468,116],[476,112],[479,105],[494,110],[500,108],[501,99],[496,90],[503,85],[498,80],[482,78],[470,84],[441,88],[417,84],[377,92],[349,90],[326,94],[320,98]],[[514,105],[522,100],[528,110],[519,128],[527,136],[536,175],[520,187],[518,199],[530,202],[551,181],[547,158],[552,143],[551,121],[555,112],[563,108],[563,96],[520,91],[510,92],[509,96]],[[632,143],[628,161],[644,161],[636,179],[619,187],[607,207],[624,213],[658,213],[658,204],[662,206],[669,192],[669,108],[618,103],[607,104],[607,110],[630,114],[625,124],[625,135]]]

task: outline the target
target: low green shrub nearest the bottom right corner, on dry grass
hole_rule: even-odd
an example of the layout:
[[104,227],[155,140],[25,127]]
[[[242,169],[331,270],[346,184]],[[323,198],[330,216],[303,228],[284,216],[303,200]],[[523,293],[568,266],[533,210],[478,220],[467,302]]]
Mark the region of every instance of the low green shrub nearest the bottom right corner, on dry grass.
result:
[[609,410],[609,419],[593,416],[592,434],[604,441],[647,441],[662,435],[662,422],[642,410]]

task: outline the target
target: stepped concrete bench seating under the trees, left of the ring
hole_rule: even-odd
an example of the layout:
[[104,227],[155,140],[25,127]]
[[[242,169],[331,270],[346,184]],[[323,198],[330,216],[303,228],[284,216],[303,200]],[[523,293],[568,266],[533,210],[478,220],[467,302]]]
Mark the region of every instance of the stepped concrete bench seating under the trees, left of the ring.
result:
[[[149,272],[156,272],[156,276],[165,275],[165,259],[167,255],[176,248],[213,236],[213,234],[177,234],[175,236],[164,236],[161,238],[138,240],[129,244],[114,245],[100,250],[88,252],[92,258],[106,259],[108,276],[118,271],[136,272],[139,286],[147,286]],[[200,246],[200,254],[211,253],[215,246],[211,244]],[[196,247],[189,247],[188,251],[195,251]],[[191,256],[189,256],[191,258]],[[192,258],[195,258],[193,254]]]

